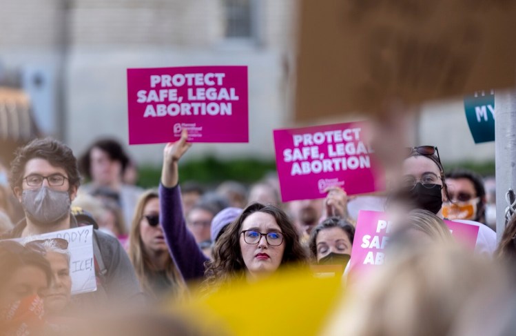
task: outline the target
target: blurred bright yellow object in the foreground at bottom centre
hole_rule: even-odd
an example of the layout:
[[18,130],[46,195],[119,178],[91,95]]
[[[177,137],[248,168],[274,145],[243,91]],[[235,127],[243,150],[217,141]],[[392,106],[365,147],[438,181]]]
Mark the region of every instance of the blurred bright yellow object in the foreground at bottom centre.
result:
[[193,295],[179,310],[207,335],[318,335],[341,293],[341,277],[296,270]]

